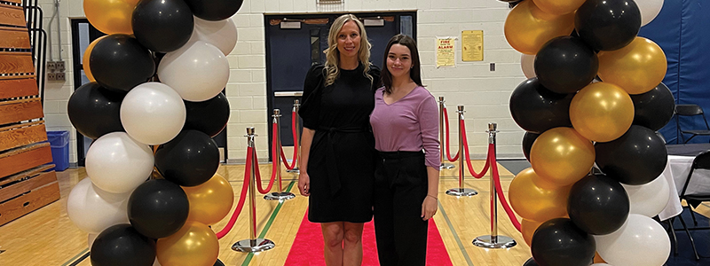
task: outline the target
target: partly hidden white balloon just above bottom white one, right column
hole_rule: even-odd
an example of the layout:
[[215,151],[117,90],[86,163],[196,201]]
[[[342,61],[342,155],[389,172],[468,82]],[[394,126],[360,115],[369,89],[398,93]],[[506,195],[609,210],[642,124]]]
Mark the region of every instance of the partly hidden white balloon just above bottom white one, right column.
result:
[[630,214],[653,217],[666,208],[670,198],[670,188],[665,177],[659,176],[650,183],[642,185],[621,184],[627,191],[631,205]]

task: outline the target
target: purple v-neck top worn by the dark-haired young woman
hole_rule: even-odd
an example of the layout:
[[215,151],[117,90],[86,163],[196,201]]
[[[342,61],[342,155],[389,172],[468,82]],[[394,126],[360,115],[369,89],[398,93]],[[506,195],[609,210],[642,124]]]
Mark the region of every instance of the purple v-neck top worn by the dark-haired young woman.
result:
[[388,105],[384,87],[375,91],[375,110],[370,124],[375,134],[375,149],[380,152],[426,153],[426,165],[441,164],[438,142],[438,106],[429,90],[417,86],[405,97]]

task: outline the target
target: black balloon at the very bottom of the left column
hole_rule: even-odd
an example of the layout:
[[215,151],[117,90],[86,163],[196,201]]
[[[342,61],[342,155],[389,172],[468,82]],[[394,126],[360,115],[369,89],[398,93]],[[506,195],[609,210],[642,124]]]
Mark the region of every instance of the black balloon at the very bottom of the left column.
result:
[[106,228],[90,248],[94,266],[152,266],[155,261],[155,241],[139,234],[130,224]]

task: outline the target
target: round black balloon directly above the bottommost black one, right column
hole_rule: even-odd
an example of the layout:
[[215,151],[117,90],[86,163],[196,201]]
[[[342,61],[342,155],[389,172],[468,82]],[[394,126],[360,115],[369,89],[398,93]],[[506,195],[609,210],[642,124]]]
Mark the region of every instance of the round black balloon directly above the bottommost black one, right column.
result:
[[604,175],[585,176],[572,185],[567,213],[582,231],[605,235],[627,221],[628,195],[619,182]]

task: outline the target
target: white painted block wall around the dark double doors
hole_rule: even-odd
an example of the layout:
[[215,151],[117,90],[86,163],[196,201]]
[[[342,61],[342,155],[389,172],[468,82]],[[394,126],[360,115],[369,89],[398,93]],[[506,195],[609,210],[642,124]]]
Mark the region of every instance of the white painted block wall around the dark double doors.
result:
[[[45,30],[51,16],[52,2],[43,2]],[[423,82],[434,96],[446,98],[452,125],[452,151],[456,146],[455,106],[466,106],[465,114],[469,148],[477,158],[483,158],[487,145],[488,122],[497,122],[499,157],[522,158],[520,140],[524,131],[509,114],[509,95],[525,80],[520,70],[520,53],[510,48],[503,36],[503,23],[508,4],[495,0],[344,0],[344,4],[317,4],[317,0],[245,0],[233,17],[239,31],[239,41],[228,56],[231,76],[226,88],[232,113],[228,124],[228,156],[231,162],[243,161],[246,140],[244,128],[256,127],[257,152],[267,158],[266,74],[264,51],[264,13],[311,12],[384,12],[417,11],[417,36],[422,55]],[[60,2],[62,27],[62,58],[71,62],[69,18],[83,18],[82,0]],[[456,66],[437,68],[435,41],[437,36],[461,38],[462,30],[484,30],[484,61],[462,62],[461,41],[457,40]],[[56,25],[53,32],[56,32]],[[56,34],[51,36],[55,58]],[[379,59],[376,59],[379,60]],[[495,71],[489,64],[495,63]],[[67,64],[67,77],[72,76]],[[303,78],[303,77],[298,77]],[[71,78],[66,82],[48,82],[45,93],[45,119],[50,129],[71,129],[67,117],[67,100],[74,90]],[[71,161],[75,162],[75,134],[71,136]]]

